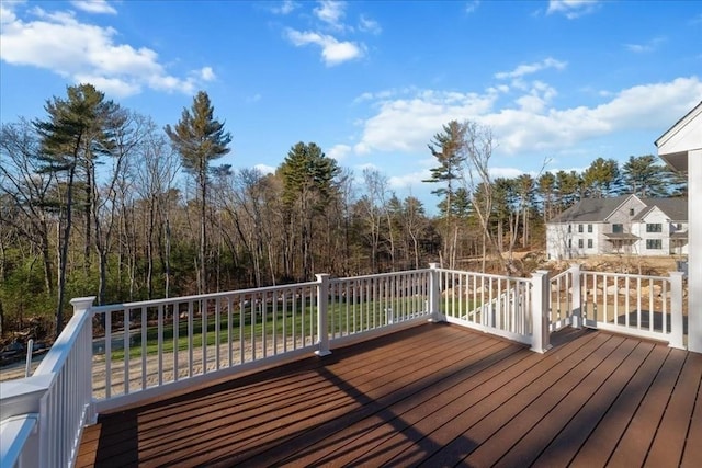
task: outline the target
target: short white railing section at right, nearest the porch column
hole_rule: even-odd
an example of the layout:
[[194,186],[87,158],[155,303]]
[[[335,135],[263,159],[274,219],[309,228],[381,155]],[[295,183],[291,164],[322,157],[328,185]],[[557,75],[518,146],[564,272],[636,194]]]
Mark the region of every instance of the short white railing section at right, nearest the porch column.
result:
[[551,330],[592,327],[684,347],[682,273],[648,276],[582,271],[551,279]]

